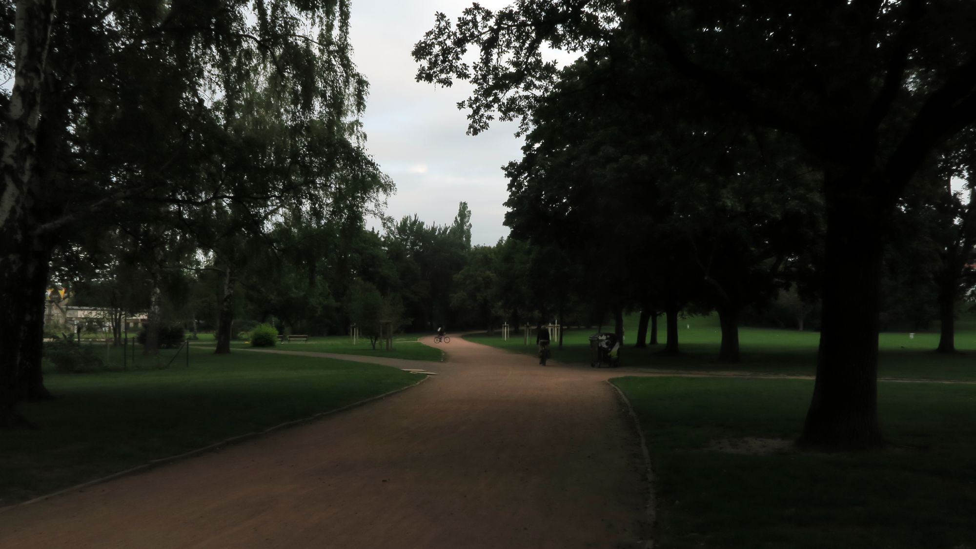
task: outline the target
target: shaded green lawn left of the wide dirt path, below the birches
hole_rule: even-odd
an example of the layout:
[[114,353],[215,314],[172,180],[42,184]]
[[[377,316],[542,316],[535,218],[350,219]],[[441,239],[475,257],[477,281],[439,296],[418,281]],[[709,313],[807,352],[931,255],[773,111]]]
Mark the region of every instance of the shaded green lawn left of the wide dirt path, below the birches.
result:
[[[142,357],[137,355],[137,359]],[[137,362],[139,364],[140,362]],[[396,368],[193,347],[168,369],[51,374],[37,429],[0,438],[0,505],[416,383]]]

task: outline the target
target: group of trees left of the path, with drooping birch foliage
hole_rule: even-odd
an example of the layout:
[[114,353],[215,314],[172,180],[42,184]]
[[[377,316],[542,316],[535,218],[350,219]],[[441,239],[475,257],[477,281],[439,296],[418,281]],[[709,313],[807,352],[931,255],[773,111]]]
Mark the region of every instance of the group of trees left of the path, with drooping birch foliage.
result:
[[0,2],[0,427],[50,397],[49,279],[127,280],[114,298],[147,296],[153,349],[164,287],[206,271],[226,351],[245,266],[340,249],[315,235],[382,206],[348,17],[347,0]]

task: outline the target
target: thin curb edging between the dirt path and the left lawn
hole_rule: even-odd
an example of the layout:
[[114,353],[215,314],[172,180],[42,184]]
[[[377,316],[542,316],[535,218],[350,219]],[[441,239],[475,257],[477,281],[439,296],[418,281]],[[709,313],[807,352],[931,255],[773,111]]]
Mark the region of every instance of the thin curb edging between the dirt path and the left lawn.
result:
[[339,412],[342,412],[342,411],[346,411],[347,409],[354,408],[354,407],[357,407],[357,406],[361,406],[363,404],[367,404],[367,403],[372,402],[372,401],[379,401],[381,399],[386,399],[386,397],[390,397],[390,396],[395,395],[397,393],[401,393],[403,391],[406,391],[407,389],[413,389],[414,387],[417,387],[418,385],[420,385],[420,384],[424,383],[425,381],[427,381],[427,379],[429,379],[429,378],[430,378],[430,376],[428,376],[428,375],[425,374],[424,377],[421,378],[417,383],[412,383],[410,385],[407,385],[406,387],[401,387],[399,389],[394,389],[392,391],[387,391],[386,393],[384,393],[382,395],[377,395],[376,397],[370,397],[369,399],[366,399],[366,400],[363,400],[363,401],[355,401],[355,402],[352,402],[351,404],[346,404],[345,406],[342,406],[342,407],[338,407],[338,408],[331,409],[331,410],[326,410],[326,411],[323,411],[323,412],[318,412],[318,413],[312,414],[312,415],[310,415],[308,417],[303,417],[303,418],[300,418],[300,419],[293,419],[291,421],[286,421],[284,423],[279,423],[277,425],[273,425],[271,427],[268,427],[267,429],[264,429],[262,431],[253,431],[251,433],[245,433],[243,435],[237,435],[237,436],[234,436],[234,437],[230,437],[230,438],[224,439],[223,441],[220,441],[218,443],[208,444],[208,445],[203,446],[201,448],[196,448],[196,449],[193,449],[193,450],[189,450],[189,451],[183,452],[181,454],[171,455],[171,456],[168,456],[168,457],[160,457],[158,459],[150,459],[148,462],[143,463],[142,465],[137,465],[135,467],[131,467],[129,469],[125,469],[125,470],[119,471],[117,473],[112,473],[111,475],[107,475],[105,477],[102,477],[102,478],[99,478],[99,479],[95,479],[93,481],[87,481],[87,482],[84,482],[84,483],[82,483],[80,485],[75,485],[75,486],[70,486],[70,487],[66,487],[66,488],[61,488],[58,491],[54,491],[54,492],[47,493],[47,494],[44,494],[44,495],[39,495],[37,497],[28,499],[26,501],[21,501],[20,503],[14,503],[14,504],[11,504],[11,505],[5,505],[3,507],[0,507],[0,513],[4,513],[6,511],[9,511],[11,509],[15,509],[15,508],[18,508],[18,507],[23,507],[25,505],[30,505],[32,503],[38,503],[38,502],[44,501],[46,499],[51,499],[52,497],[57,497],[59,495],[66,494],[68,492],[83,490],[83,489],[89,488],[91,486],[102,485],[102,484],[107,483],[109,481],[114,481],[115,479],[121,479],[122,477],[130,477],[130,476],[133,476],[133,475],[139,475],[139,474],[145,473],[146,471],[149,471],[151,469],[155,469],[156,467],[160,467],[160,466],[163,466],[163,465],[169,465],[170,463],[175,463],[177,461],[182,461],[183,459],[188,459],[188,458],[196,457],[198,455],[202,455],[202,454],[209,453],[209,452],[212,452],[212,451],[220,450],[220,449],[223,449],[225,446],[230,446],[230,445],[237,444],[237,443],[244,443],[244,442],[250,441],[252,439],[257,439],[257,438],[259,438],[261,436],[268,435],[268,434],[273,433],[273,432],[276,432],[276,431],[282,431],[284,429],[288,429],[289,427],[295,427],[295,426],[301,425],[303,423],[309,423],[309,422],[312,422],[312,421],[314,421],[316,419],[320,419],[322,417],[325,417],[327,415],[332,415],[334,413],[339,413]]

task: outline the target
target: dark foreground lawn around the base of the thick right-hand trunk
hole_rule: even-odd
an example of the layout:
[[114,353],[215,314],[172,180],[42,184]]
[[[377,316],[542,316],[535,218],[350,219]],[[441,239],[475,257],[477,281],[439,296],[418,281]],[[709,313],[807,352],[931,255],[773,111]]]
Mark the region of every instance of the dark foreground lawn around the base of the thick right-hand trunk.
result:
[[861,454],[710,449],[793,440],[807,380],[613,380],[654,463],[662,549],[976,547],[976,386],[879,383],[882,429],[899,446]]

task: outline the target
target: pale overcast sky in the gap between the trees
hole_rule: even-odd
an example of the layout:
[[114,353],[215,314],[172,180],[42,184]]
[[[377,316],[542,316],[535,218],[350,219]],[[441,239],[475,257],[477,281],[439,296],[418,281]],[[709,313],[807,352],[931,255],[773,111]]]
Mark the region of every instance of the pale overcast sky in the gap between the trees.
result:
[[[489,9],[511,0],[479,0]],[[451,223],[458,203],[471,210],[471,243],[494,244],[502,225],[508,180],[502,166],[521,157],[513,123],[496,123],[471,137],[467,112],[456,104],[470,86],[434,88],[414,81],[414,44],[442,11],[452,20],[467,0],[354,0],[350,39],[353,58],[370,83],[363,117],[370,153],[396,184],[386,214],[418,214],[426,223]],[[371,226],[375,227],[376,224]]]

